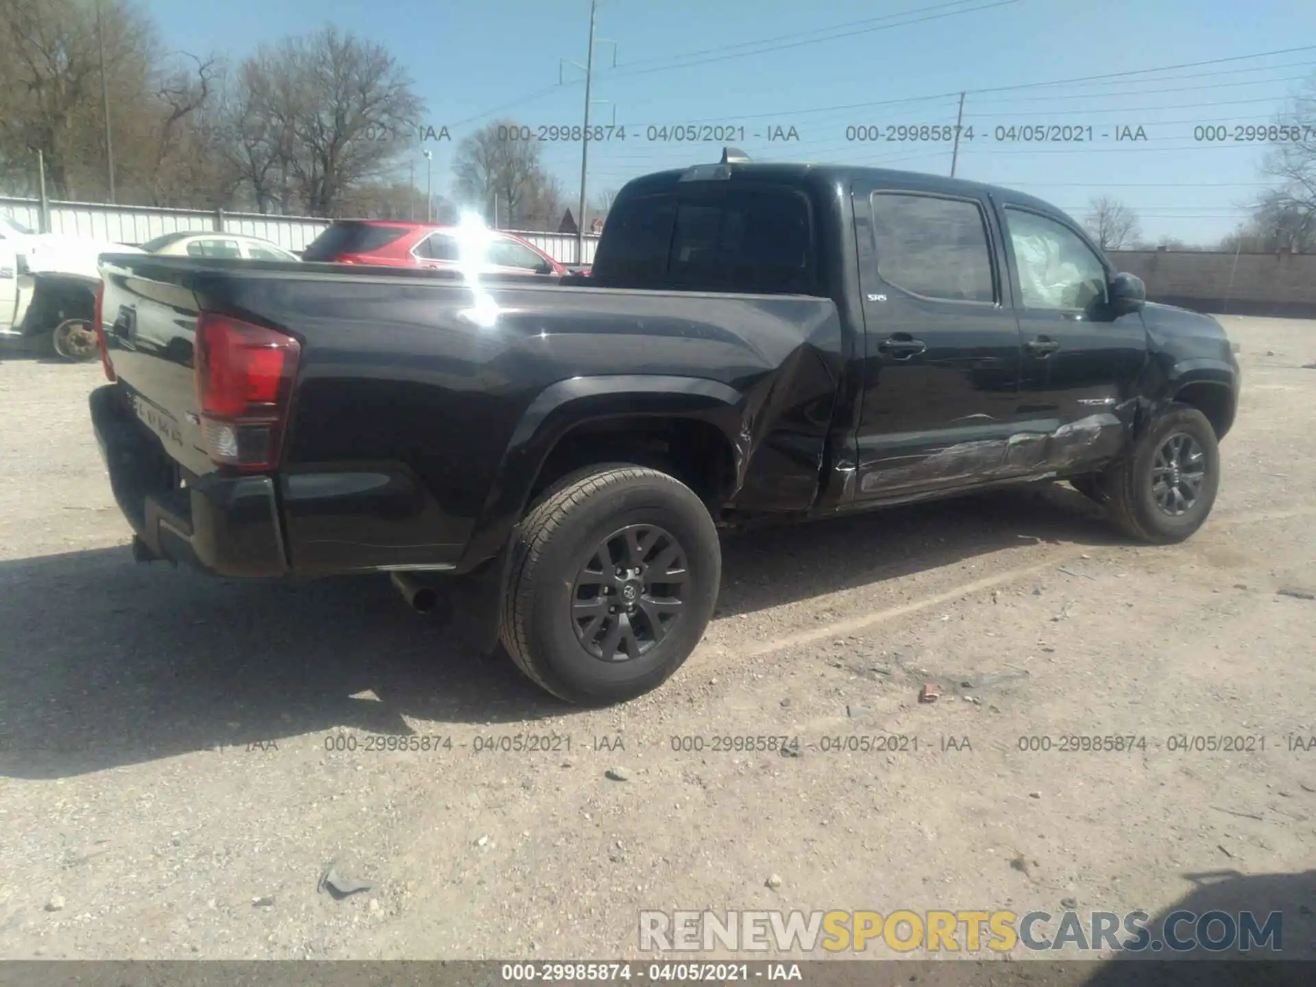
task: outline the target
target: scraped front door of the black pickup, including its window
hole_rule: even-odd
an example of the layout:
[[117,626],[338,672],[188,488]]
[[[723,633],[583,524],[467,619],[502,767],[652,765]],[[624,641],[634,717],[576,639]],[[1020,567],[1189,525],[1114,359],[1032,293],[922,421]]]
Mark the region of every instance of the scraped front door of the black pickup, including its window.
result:
[[1132,422],[1142,316],[1109,309],[1112,271],[1076,229],[1023,205],[1001,212],[1023,333],[1020,430],[1040,467],[1080,471],[1116,455]]

